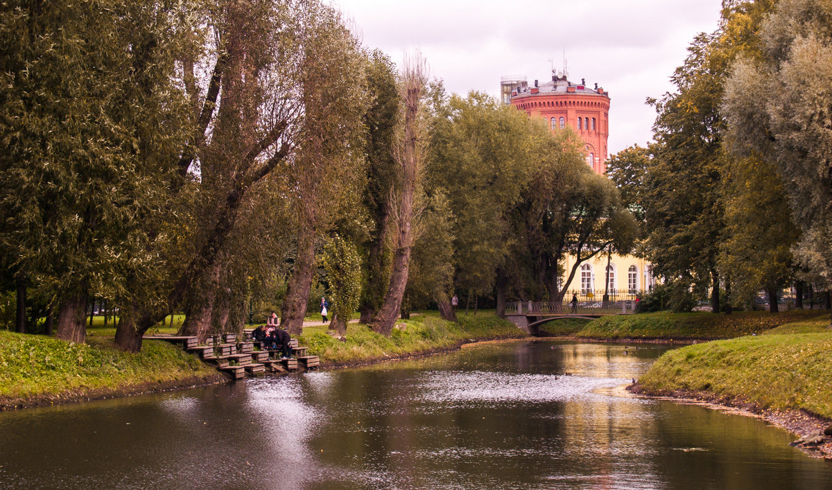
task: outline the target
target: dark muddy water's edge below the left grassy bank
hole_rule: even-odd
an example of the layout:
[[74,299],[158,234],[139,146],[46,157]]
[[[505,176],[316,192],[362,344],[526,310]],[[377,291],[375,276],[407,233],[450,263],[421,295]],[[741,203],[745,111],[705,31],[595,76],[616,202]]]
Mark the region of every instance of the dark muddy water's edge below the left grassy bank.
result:
[[142,394],[164,393],[181,389],[199,388],[211,384],[227,383],[230,379],[225,374],[216,373],[207,376],[191,376],[170,381],[126,384],[118,388],[72,389],[62,393],[42,393],[26,398],[0,397],[0,410],[20,408],[48,407],[72,403],[91,402],[109,398],[127,398]]

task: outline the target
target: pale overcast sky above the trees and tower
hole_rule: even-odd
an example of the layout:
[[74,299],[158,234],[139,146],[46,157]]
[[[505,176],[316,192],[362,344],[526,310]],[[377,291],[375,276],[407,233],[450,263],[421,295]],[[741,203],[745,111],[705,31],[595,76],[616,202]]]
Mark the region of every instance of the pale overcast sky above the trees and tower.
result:
[[[450,92],[499,95],[503,76],[551,80],[567,58],[569,80],[610,92],[610,154],[651,140],[646,97],[672,90],[668,77],[698,32],[712,32],[721,0],[331,0],[364,45],[400,63],[421,50]],[[552,60],[550,62],[549,60]]]

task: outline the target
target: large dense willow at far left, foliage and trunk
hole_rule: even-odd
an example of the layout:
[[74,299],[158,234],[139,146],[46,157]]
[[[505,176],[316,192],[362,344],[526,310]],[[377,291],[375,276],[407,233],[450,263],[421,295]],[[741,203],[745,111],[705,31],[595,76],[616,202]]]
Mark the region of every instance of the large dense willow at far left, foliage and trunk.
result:
[[175,61],[191,7],[166,2],[6,2],[0,15],[2,255],[81,342],[91,294],[153,268],[166,185],[186,133]]

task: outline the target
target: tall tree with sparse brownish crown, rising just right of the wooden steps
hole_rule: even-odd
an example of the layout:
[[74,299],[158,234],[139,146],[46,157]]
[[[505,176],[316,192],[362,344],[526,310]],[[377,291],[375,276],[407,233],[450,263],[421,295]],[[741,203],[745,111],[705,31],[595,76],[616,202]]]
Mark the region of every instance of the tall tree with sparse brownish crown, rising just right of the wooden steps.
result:
[[363,176],[362,116],[365,57],[339,12],[310,4],[300,13],[300,121],[287,166],[295,209],[295,257],[280,311],[281,324],[300,334],[315,268],[315,240],[338,215],[339,202]]

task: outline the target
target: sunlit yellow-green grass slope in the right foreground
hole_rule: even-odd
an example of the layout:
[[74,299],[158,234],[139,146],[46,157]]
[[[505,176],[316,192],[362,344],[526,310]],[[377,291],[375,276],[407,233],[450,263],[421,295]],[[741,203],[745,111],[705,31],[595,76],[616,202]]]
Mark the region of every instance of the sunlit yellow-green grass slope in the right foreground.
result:
[[639,384],[647,393],[706,390],[832,418],[830,352],[830,332],[718,340],[667,352]]

